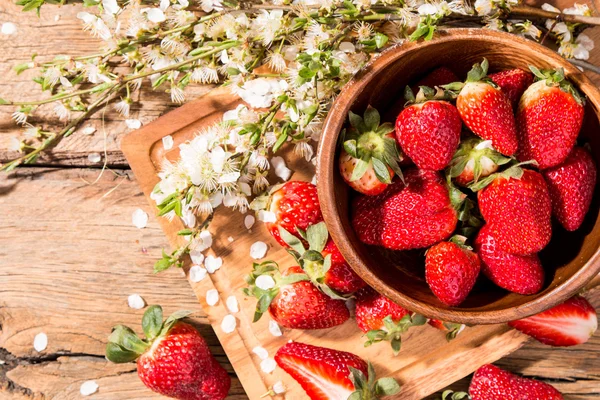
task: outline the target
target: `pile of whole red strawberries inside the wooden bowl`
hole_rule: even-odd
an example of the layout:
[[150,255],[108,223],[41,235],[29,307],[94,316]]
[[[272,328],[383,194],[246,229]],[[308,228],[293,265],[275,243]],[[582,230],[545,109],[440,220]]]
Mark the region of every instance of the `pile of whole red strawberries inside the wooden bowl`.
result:
[[511,292],[539,292],[552,216],[574,231],[590,207],[596,166],[577,144],[584,100],[562,70],[530,69],[488,76],[484,59],[458,82],[438,68],[407,87],[395,127],[371,107],[350,113],[339,168],[361,193],[359,239],[427,249],[426,281],[448,306],[480,270]]

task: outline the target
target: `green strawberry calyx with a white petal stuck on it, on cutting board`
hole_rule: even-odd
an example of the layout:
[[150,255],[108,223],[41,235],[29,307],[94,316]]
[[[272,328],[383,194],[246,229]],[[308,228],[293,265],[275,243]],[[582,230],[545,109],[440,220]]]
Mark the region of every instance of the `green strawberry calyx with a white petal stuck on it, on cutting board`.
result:
[[282,286],[309,280],[306,274],[281,275],[279,265],[274,261],[252,264],[252,272],[244,279],[248,284],[248,287],[243,289],[244,294],[258,299],[253,322],[260,320],[262,315],[267,312]]

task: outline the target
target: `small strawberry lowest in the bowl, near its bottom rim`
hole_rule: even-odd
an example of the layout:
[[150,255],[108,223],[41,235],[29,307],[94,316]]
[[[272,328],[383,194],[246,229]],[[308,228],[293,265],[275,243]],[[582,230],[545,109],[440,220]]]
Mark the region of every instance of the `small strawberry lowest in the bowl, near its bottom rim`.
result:
[[425,280],[435,296],[444,304],[456,307],[462,303],[479,275],[479,257],[465,246],[464,236],[440,242],[425,254]]

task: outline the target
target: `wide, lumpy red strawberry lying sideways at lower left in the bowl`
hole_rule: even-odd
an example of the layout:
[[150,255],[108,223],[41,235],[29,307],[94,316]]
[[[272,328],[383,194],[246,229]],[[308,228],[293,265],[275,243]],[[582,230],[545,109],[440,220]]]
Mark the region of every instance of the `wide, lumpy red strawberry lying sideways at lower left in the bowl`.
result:
[[355,201],[352,225],[359,239],[393,250],[429,247],[450,237],[457,214],[448,188],[434,171],[410,169],[378,196]]

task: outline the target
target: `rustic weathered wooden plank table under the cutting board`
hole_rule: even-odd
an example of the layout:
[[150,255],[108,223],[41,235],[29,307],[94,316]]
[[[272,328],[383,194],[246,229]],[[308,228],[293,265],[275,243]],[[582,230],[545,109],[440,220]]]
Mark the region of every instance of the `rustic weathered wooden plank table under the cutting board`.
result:
[[[32,75],[17,76],[12,66],[33,53],[87,54],[97,41],[82,33],[75,17],[80,7],[46,7],[38,19],[12,3],[0,1],[0,24],[10,21],[18,28],[15,35],[0,34],[0,95],[33,99],[38,90]],[[600,29],[591,35],[600,43]],[[600,65],[600,51],[590,61]],[[600,83],[599,76],[590,78]],[[187,96],[210,89],[190,87]],[[174,107],[165,93],[142,90],[141,96],[132,118],[142,123]],[[45,123],[59,126],[47,111]],[[97,131],[74,134],[39,166],[0,176],[0,399],[80,398],[79,386],[88,379],[100,385],[95,399],[162,398],[137,379],[135,364],[114,365],[104,358],[113,325],[139,327],[143,311],[127,305],[133,293],[163,305],[166,313],[196,311],[196,326],[234,378],[230,399],[246,399],[181,271],[151,273],[167,241],[119,150],[128,131],[123,118],[109,109],[104,120],[97,113],[87,125]],[[8,150],[16,134],[10,110],[0,108],[0,162],[16,155]],[[101,154],[102,162],[91,163],[90,153]],[[138,207],[151,215],[142,230],[131,223]],[[33,338],[40,332],[47,334],[48,348],[38,353]],[[531,342],[497,364],[549,381],[568,399],[593,399],[600,398],[599,351],[597,333],[568,349]],[[465,390],[468,382],[465,378],[453,389]]]

